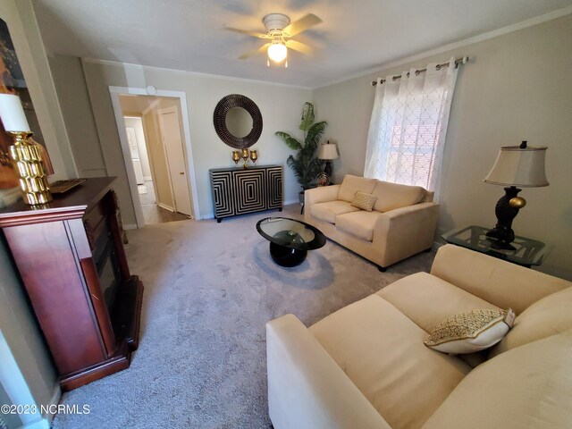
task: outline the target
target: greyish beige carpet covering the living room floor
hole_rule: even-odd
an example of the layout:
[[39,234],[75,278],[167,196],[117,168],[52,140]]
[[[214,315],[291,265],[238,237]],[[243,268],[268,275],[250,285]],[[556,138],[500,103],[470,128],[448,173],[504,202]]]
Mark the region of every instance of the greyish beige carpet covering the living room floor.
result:
[[63,395],[89,415],[54,428],[266,428],[265,323],[293,313],[313,324],[408,273],[433,253],[380,273],[328,241],[295,268],[274,265],[255,225],[299,206],[224,220],[129,231],[131,273],[145,284],[141,340],[129,369]]

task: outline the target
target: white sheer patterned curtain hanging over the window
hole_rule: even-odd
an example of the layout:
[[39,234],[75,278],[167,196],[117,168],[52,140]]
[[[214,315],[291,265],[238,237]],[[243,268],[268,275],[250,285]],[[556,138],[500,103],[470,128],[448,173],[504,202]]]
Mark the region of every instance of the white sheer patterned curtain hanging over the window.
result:
[[448,67],[429,63],[426,69],[377,81],[364,176],[423,186],[438,199],[457,68],[451,58]]

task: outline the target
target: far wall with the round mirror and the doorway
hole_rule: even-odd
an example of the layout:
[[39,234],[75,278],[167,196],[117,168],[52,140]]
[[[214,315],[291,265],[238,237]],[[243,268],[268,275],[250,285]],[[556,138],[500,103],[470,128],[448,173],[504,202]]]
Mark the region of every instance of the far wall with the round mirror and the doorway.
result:
[[[242,94],[257,103],[264,119],[262,136],[254,146],[258,150],[259,163],[282,164],[285,182],[284,199],[285,201],[298,199],[299,185],[285,163],[290,155],[290,149],[280,139],[274,137],[273,133],[277,130],[299,132],[299,112],[304,102],[311,97],[309,89],[116,63],[84,62],[83,71],[107,172],[109,175],[119,177],[116,190],[122,205],[124,223],[135,224],[135,215],[122,161],[109,86],[146,88],[147,85],[153,85],[159,90],[181,91],[186,94],[200,217],[213,215],[208,169],[233,165],[231,147],[223,144],[213,126],[214,107],[222,97],[229,94]],[[66,71],[57,72],[61,72],[62,79],[65,79]],[[75,107],[83,108],[79,104]],[[319,112],[320,106],[316,106],[316,109]]]

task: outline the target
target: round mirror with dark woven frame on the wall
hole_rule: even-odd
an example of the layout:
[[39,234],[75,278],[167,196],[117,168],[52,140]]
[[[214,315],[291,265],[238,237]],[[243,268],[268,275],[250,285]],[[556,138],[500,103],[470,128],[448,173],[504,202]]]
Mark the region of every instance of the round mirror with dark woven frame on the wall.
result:
[[[237,107],[241,109],[237,109]],[[229,114],[231,117],[227,118]],[[237,121],[243,123],[237,123]],[[262,133],[260,109],[254,101],[240,94],[231,94],[218,102],[214,107],[213,122],[218,137],[235,149],[251,147],[258,141]],[[227,124],[232,124],[231,130]],[[237,132],[237,130],[240,131]]]

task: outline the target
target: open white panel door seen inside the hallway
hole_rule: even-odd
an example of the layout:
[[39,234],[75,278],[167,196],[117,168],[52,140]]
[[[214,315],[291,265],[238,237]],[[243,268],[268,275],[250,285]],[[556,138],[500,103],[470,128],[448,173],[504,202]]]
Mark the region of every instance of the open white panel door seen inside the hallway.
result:
[[163,139],[169,174],[171,176],[175,210],[179,213],[192,216],[189,181],[187,179],[185,154],[182,148],[179,113],[176,108],[170,107],[159,110],[158,114],[161,139]]

